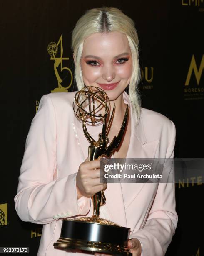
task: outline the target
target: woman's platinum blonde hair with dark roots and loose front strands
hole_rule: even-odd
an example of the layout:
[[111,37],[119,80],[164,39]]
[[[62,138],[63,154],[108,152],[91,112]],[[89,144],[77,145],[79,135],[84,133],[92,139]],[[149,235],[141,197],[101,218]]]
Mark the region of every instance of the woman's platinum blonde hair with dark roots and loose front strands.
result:
[[121,10],[114,7],[102,7],[87,10],[77,21],[72,31],[72,51],[75,55],[75,80],[78,90],[85,85],[83,82],[80,60],[85,38],[93,33],[109,33],[119,31],[126,34],[132,54],[132,76],[129,82],[129,100],[137,126],[140,119],[141,98],[138,83],[141,78],[139,68],[139,40],[134,21]]

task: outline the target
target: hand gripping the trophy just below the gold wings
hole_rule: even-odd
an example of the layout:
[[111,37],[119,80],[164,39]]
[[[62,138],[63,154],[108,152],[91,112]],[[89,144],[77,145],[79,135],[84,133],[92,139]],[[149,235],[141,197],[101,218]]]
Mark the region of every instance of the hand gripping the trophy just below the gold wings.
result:
[[91,197],[107,188],[106,183],[100,183],[100,160],[89,161],[87,158],[80,164],[76,175],[76,187],[78,199],[82,196]]

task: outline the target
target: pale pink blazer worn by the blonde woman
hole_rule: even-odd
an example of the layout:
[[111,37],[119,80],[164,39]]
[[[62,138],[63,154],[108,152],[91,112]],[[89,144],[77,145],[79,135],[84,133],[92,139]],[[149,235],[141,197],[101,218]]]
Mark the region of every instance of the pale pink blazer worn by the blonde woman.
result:
[[[77,200],[75,177],[88,157],[90,145],[72,109],[76,92],[43,95],[26,139],[15,208],[23,221],[44,224],[38,256],[85,256],[54,249],[62,218],[92,216],[90,198]],[[129,95],[123,92],[130,105]],[[142,108],[134,128],[130,105],[131,138],[127,158],[173,158],[175,125],[164,115]],[[102,125],[87,130],[98,139]],[[100,217],[131,228],[130,238],[142,244],[142,256],[165,254],[177,227],[174,183],[114,183],[104,191]]]

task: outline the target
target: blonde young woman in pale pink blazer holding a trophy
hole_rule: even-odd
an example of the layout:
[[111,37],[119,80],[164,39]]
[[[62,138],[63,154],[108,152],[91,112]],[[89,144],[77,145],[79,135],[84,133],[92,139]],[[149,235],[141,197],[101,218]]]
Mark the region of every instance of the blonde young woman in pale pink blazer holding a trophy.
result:
[[[114,158],[174,158],[174,123],[140,106],[134,22],[117,8],[88,10],[73,30],[72,50],[78,90],[100,87],[111,110],[116,106],[109,141],[119,132],[129,105],[124,139]],[[75,93],[42,96],[26,140],[15,205],[21,220],[44,224],[37,255],[72,254],[53,248],[61,220],[92,216],[91,196],[102,189],[106,204],[100,217],[131,228],[128,246],[133,256],[164,255],[178,221],[174,183],[101,184],[95,169],[100,161],[88,161],[90,144],[72,109]],[[87,125],[96,139],[101,128]]]

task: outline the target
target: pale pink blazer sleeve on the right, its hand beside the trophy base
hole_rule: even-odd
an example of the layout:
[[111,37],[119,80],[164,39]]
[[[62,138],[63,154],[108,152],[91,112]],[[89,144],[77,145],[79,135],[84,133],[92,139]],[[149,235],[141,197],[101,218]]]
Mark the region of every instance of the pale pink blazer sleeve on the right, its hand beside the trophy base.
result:
[[[175,125],[172,124],[172,136],[167,148],[167,158],[174,158]],[[150,209],[144,227],[130,235],[139,239],[142,245],[142,256],[164,256],[172,241],[177,227],[178,215],[175,210],[174,167],[171,170],[171,181],[159,183],[157,194]]]

